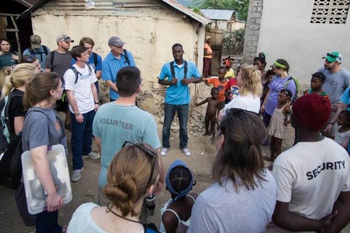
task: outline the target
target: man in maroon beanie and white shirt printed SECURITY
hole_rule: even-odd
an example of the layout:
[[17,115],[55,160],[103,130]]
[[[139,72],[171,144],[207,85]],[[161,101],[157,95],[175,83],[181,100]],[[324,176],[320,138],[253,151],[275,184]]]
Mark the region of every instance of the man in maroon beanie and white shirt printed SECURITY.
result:
[[292,111],[299,142],[273,163],[277,203],[265,232],[339,232],[350,221],[350,158],[343,147],[320,134],[330,102],[308,94],[293,103]]

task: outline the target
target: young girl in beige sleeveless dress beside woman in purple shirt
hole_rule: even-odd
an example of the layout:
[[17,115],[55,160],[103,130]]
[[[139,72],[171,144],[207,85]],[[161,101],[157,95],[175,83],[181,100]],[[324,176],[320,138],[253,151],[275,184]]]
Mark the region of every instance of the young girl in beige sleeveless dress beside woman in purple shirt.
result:
[[292,93],[288,89],[281,89],[278,93],[278,103],[273,111],[270,124],[268,126],[268,135],[271,136],[271,154],[268,160],[273,161],[281,153],[281,145],[285,131],[285,120],[287,114],[291,112],[290,99]]

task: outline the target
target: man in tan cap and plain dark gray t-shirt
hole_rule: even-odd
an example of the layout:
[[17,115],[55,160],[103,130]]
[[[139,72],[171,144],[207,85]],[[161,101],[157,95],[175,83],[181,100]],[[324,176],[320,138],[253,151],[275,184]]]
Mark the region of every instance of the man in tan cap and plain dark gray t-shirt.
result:
[[[61,81],[65,71],[71,66],[71,55],[68,51],[70,42],[74,42],[68,35],[60,34],[56,38],[57,49],[46,56],[45,72],[56,72]],[[56,101],[56,110],[65,112],[65,128],[71,131],[71,119],[68,110],[68,102]]]

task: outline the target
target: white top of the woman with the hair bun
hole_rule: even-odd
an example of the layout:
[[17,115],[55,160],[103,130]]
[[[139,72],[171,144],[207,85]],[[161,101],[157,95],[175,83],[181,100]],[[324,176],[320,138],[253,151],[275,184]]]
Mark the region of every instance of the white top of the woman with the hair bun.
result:
[[[91,211],[95,207],[99,205],[92,202],[81,204],[69,221],[67,233],[107,233],[91,218]],[[144,230],[139,233],[144,233]]]

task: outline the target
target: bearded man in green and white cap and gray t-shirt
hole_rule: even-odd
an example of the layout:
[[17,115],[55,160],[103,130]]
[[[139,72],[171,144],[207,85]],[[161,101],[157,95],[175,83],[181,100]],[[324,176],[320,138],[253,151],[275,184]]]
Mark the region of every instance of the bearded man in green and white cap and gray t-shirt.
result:
[[[340,67],[343,57],[339,52],[327,52],[326,56],[322,57],[322,59],[324,59],[323,67],[319,68],[317,72],[322,72],[326,77],[322,89],[330,98],[332,106],[331,119],[340,105],[340,95],[350,86],[350,72]],[[332,131],[333,124],[334,122],[329,121],[326,131]],[[334,134],[333,131],[331,134]]]

